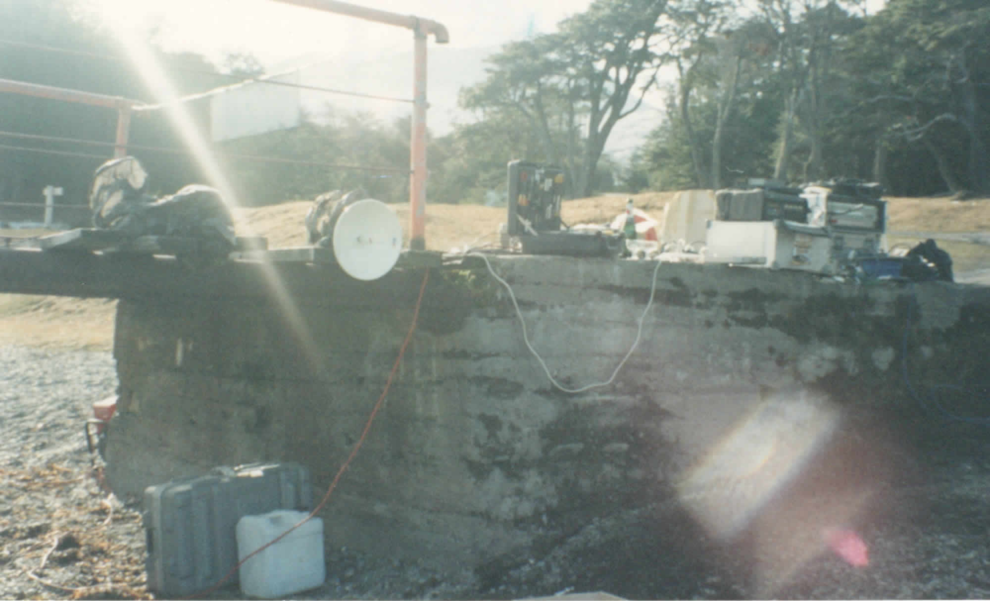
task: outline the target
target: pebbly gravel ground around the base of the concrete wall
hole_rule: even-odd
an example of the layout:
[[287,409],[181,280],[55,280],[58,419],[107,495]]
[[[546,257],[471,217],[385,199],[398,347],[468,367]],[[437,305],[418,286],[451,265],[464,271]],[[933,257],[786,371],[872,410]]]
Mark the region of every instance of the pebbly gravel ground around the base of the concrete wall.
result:
[[[83,437],[90,404],[115,391],[110,353],[0,347],[0,382],[0,598],[153,598],[141,508],[101,487]],[[444,578],[328,548],[326,584],[296,598],[988,598],[990,430],[916,413],[891,429],[908,450],[904,476],[888,483],[884,510],[857,524],[865,567],[821,552],[760,593],[751,551],[709,540],[670,504],[596,520],[531,556]]]

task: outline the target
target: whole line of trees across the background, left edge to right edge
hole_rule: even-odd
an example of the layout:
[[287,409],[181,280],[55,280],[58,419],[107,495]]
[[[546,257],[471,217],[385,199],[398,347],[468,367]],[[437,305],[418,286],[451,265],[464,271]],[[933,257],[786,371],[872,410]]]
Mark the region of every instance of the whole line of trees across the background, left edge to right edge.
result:
[[[484,202],[504,191],[506,163],[517,158],[561,166],[575,197],[720,188],[748,177],[857,178],[896,195],[990,194],[990,6],[888,0],[867,14],[861,2],[595,0],[556,31],[503,46],[485,77],[461,89],[468,117],[429,140],[429,201]],[[150,94],[79,1],[4,3],[0,52],[0,78]],[[218,65],[156,52],[179,93],[261,72],[249,55]],[[620,164],[605,150],[609,137],[647,97],[662,98],[662,110]],[[205,128],[206,104],[190,108]],[[66,202],[84,203],[93,170],[112,154],[115,120],[106,109],[0,94],[0,202],[38,197],[54,183]],[[409,118],[386,123],[328,108],[294,129],[214,146],[247,204],[358,186],[401,202],[409,129]],[[136,117],[132,132],[152,192],[204,180],[188,154],[169,151],[181,143],[163,116]]]

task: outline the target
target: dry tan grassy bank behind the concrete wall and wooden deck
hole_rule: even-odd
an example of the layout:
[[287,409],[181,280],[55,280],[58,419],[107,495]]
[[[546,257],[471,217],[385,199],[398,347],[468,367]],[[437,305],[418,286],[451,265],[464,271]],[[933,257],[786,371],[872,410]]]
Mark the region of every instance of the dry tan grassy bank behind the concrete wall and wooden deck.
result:
[[[633,196],[636,206],[657,220],[677,192],[647,192]],[[606,195],[566,201],[561,211],[568,225],[604,224],[621,213],[625,195]],[[914,245],[917,233],[938,238],[939,233],[990,232],[990,199],[953,202],[949,198],[888,198],[888,243]],[[311,202],[244,209],[239,233],[263,236],[270,248],[306,245],[303,218]],[[408,230],[409,206],[393,205]],[[478,205],[430,205],[427,209],[427,249],[451,250],[498,244],[499,226],[506,209]],[[915,233],[898,236],[898,232]],[[408,234],[408,233],[407,233]],[[940,241],[951,254],[956,273],[990,268],[990,247],[966,242]],[[116,301],[17,294],[0,294],[0,345],[109,350],[113,342]]]

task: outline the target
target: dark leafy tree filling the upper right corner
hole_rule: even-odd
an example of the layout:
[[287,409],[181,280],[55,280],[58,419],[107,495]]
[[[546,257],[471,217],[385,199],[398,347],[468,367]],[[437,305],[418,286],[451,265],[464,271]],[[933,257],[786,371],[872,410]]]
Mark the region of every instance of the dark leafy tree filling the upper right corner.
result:
[[990,193],[988,38],[982,0],[890,0],[850,49],[875,74],[859,86],[860,109],[929,154],[952,191]]

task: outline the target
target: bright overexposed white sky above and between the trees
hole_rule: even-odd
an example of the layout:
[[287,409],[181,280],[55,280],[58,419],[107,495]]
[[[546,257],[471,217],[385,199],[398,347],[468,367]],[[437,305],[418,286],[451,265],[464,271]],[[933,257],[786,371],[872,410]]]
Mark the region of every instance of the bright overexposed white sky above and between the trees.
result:
[[[187,50],[220,64],[229,53],[250,53],[269,69],[310,64],[301,82],[390,97],[412,97],[412,33],[404,28],[373,23],[278,0],[82,0],[108,24],[132,31],[160,32],[155,43],[165,50]],[[564,18],[585,11],[592,0],[350,0],[372,9],[415,15],[446,26],[450,42],[428,45],[430,68],[428,125],[445,135],[465,115],[457,108],[457,91],[484,77],[484,56],[501,45],[555,31]],[[875,12],[884,0],[868,0]],[[322,54],[317,60],[314,54]],[[299,59],[300,56],[306,59]],[[296,59],[296,60],[293,60]],[[307,109],[326,106],[327,95],[308,94]],[[353,103],[337,96],[333,103],[352,110]],[[309,104],[307,104],[309,103]],[[350,104],[348,104],[350,103]],[[640,111],[623,120],[607,150],[617,158],[642,143],[655,127],[663,106],[652,91]],[[408,105],[360,104],[379,118],[408,113]]]

